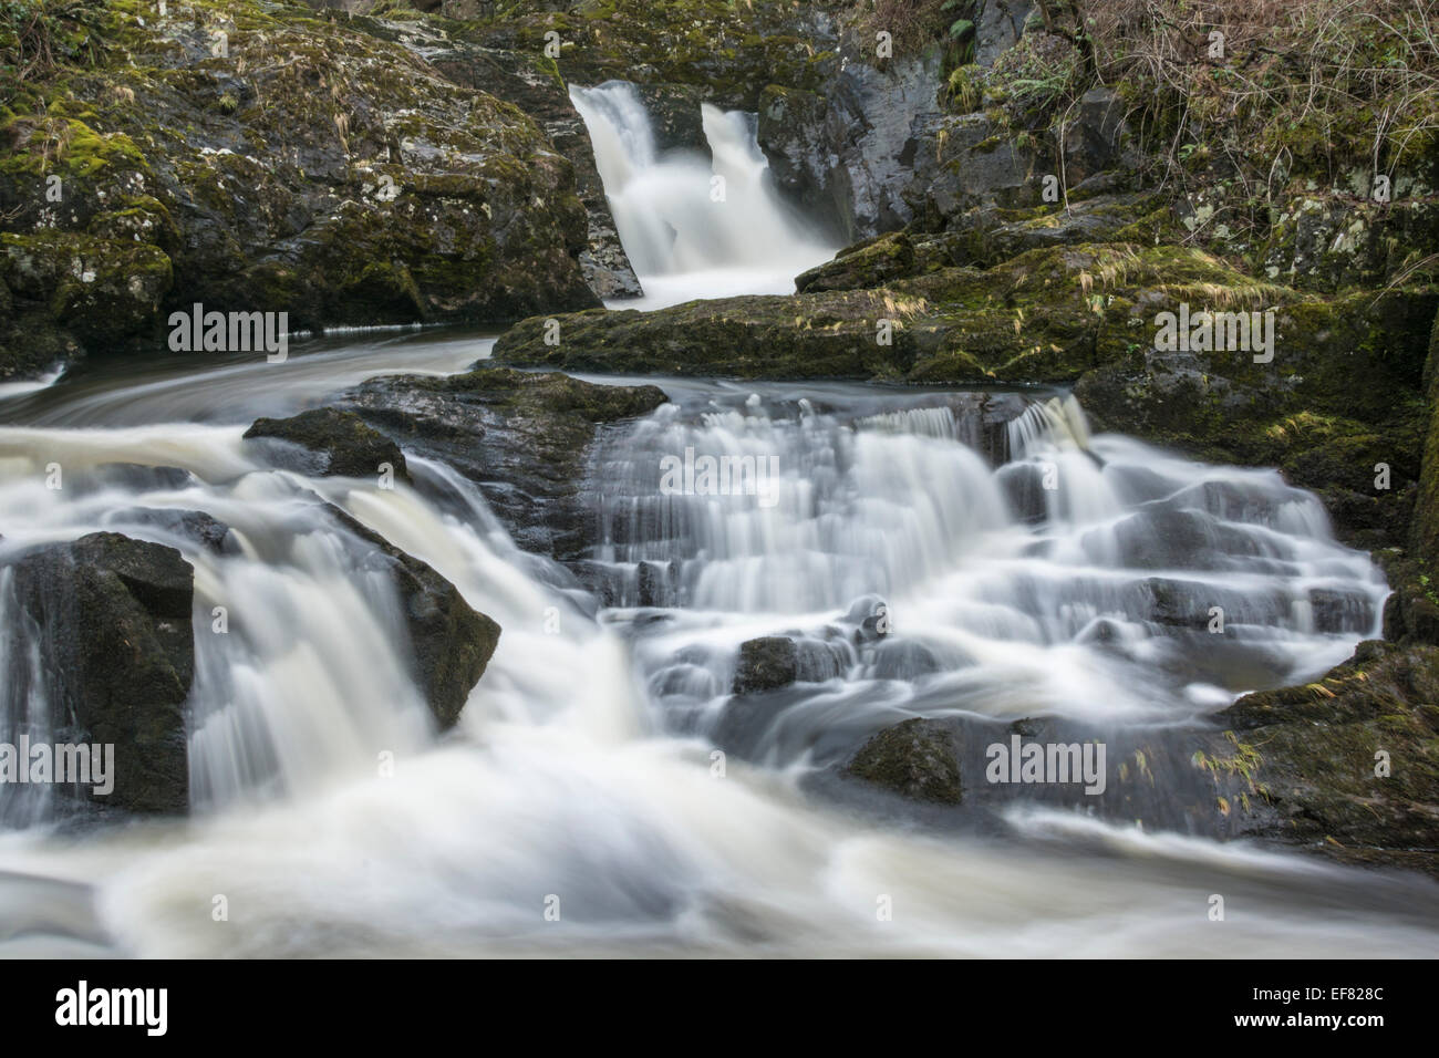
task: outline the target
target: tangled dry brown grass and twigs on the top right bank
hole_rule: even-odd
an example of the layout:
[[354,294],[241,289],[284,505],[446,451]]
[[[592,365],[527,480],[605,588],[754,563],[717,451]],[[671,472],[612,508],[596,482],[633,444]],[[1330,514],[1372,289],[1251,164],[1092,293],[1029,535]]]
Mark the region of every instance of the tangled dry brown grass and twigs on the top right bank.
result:
[[1269,197],[1295,168],[1392,173],[1439,132],[1439,0],[1091,0],[1085,20],[1174,177],[1217,161]]

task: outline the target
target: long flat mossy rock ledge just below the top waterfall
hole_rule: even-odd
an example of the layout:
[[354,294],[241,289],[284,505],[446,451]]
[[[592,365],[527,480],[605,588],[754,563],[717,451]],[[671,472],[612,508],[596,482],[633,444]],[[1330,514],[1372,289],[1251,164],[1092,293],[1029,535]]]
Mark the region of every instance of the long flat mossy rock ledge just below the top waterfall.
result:
[[[1122,275],[1112,305],[1086,294]],[[741,297],[655,312],[525,320],[495,358],[589,371],[914,383],[1063,381],[1153,338],[1154,304],[1176,281],[1240,282],[1207,255],[1127,243],[1030,250],[990,269],[940,268],[863,291]],[[1203,279],[1200,279],[1203,276]],[[1143,308],[1140,308],[1143,305]],[[1138,328],[1147,328],[1147,334]]]

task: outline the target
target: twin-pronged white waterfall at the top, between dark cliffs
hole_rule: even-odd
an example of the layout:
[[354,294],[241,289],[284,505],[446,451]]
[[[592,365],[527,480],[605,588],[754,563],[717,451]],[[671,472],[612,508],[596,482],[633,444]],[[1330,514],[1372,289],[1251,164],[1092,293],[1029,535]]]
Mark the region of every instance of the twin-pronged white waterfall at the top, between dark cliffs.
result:
[[694,298],[793,294],[794,276],[835,255],[780,200],[755,143],[753,115],[702,105],[711,160],[655,147],[633,85],[571,89],[594,144],[614,225],[645,298],[661,308]]

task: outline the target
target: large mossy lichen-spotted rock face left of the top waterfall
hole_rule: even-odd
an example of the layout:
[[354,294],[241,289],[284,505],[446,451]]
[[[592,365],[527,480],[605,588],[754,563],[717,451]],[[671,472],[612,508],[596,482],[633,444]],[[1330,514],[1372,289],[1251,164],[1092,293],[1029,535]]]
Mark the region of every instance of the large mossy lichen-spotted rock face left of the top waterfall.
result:
[[101,58],[6,111],[0,376],[163,345],[196,302],[291,330],[597,304],[574,166],[432,26],[118,0],[83,32]]

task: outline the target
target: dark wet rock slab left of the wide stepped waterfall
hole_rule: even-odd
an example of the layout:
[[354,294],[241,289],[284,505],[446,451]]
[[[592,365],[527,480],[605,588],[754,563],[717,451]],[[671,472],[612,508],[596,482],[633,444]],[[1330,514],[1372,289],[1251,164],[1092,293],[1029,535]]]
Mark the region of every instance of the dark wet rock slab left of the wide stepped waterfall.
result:
[[371,379],[341,404],[475,481],[521,547],[571,561],[587,557],[596,538],[580,492],[596,430],[665,400],[655,386],[484,367],[448,379]]

